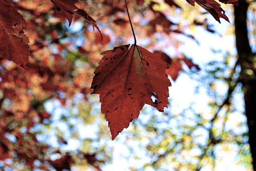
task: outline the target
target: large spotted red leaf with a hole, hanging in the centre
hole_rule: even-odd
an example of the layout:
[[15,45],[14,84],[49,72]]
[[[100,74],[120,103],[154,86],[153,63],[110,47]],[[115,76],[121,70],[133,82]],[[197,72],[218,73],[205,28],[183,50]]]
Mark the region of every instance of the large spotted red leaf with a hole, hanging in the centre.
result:
[[[94,71],[92,93],[100,94],[101,111],[106,116],[112,140],[137,119],[145,104],[164,111],[171,86],[165,69],[168,64],[148,50],[130,44],[102,52]],[[154,96],[157,100],[152,101]]]

